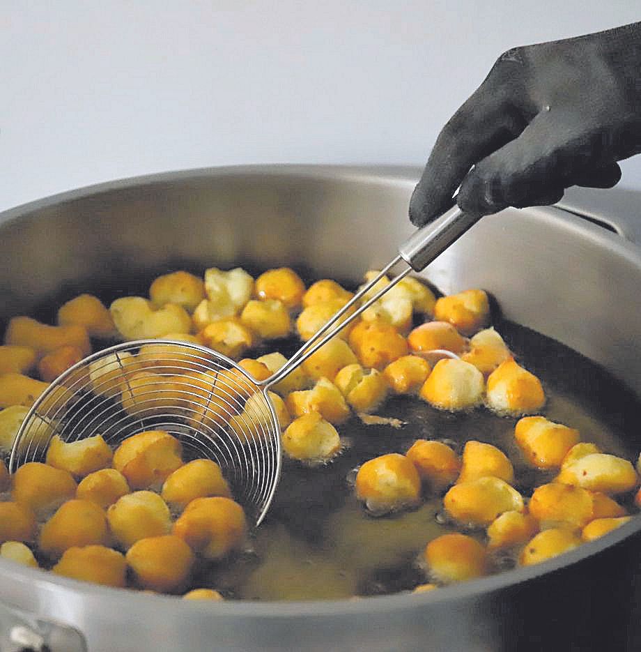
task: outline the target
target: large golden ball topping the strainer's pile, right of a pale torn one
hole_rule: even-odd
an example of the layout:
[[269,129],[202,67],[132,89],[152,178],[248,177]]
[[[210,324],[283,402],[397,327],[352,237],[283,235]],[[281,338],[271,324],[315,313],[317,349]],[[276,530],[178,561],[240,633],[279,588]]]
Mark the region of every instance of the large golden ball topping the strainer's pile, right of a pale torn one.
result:
[[183,465],[178,439],[164,430],[146,430],[125,439],[114,453],[114,469],[132,489],[146,489],[167,480]]

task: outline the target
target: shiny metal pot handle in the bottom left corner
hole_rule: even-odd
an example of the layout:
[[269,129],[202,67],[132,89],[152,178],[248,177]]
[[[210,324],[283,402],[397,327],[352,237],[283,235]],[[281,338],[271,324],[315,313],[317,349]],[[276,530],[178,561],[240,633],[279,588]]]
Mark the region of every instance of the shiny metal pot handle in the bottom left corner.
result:
[[87,646],[78,630],[0,602],[0,652],[26,651],[87,652]]

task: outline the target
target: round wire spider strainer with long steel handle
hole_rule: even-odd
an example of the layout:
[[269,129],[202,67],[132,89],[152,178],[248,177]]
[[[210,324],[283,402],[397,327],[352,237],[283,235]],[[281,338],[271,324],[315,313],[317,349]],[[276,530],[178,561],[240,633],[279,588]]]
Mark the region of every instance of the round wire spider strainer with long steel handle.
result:
[[[235,499],[260,524],[281,471],[281,433],[268,389],[477,220],[455,206],[419,229],[376,278],[264,381],[217,351],[187,342],[139,340],[98,351],[61,374],[34,402],[17,433],[10,471],[43,460],[56,434],[67,442],[100,434],[117,446],[138,432],[164,430],[180,441],[185,457],[217,462]],[[408,266],[369,296],[401,261]],[[350,312],[366,295],[367,301]]]

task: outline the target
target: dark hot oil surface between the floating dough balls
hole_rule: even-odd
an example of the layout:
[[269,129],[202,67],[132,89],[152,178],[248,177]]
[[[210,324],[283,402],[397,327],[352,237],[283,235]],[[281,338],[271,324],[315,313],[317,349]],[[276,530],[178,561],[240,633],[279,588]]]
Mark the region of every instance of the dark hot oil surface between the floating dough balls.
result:
[[[119,276],[95,294],[107,305],[117,296],[145,296],[153,278],[177,268],[202,273],[202,266],[193,265],[145,270],[126,279]],[[54,307],[47,302],[32,316],[54,323],[61,303],[92,287],[101,287],[100,282],[65,288]],[[582,441],[593,441],[606,453],[636,459],[641,448],[641,441],[633,439],[641,423],[638,397],[554,340],[509,321],[496,322],[495,328],[518,362],[543,382],[543,416],[578,428]],[[289,338],[263,344],[246,356],[276,350],[291,356],[298,347],[300,341]],[[415,397],[392,397],[376,414],[399,418],[406,425],[364,425],[354,416],[338,427],[346,445],[330,464],[309,468],[286,460],[268,518],[252,533],[251,549],[221,563],[203,564],[191,588],[211,587],[227,598],[298,600],[394,593],[428,581],[417,564],[424,547],[443,533],[461,529],[444,517],[442,495],[426,496],[415,510],[373,517],[355,499],[350,483],[360,464],[384,453],[404,453],[415,439],[442,439],[457,453],[470,439],[495,444],[512,461],[516,488],[525,496],[555,475],[526,464],[513,437],[516,419],[482,408],[450,414]],[[467,533],[484,539],[483,530]]]

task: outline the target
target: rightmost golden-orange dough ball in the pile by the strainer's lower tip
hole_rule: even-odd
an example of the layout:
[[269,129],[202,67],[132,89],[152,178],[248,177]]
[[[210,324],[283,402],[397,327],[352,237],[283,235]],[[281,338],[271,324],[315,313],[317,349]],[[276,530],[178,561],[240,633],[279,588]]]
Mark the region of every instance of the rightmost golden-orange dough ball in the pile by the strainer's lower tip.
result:
[[229,498],[196,498],[173,524],[173,533],[205,559],[217,560],[245,543],[242,507]]

